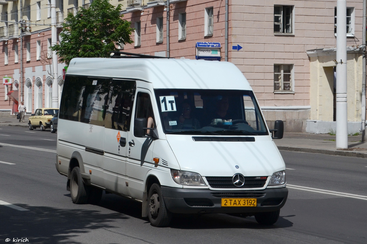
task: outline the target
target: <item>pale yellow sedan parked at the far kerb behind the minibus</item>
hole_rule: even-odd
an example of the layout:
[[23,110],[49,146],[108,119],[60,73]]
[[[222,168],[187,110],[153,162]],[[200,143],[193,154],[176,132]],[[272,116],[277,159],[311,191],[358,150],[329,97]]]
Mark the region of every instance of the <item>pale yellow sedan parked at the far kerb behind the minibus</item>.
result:
[[29,117],[29,129],[40,127],[41,131],[50,128],[50,121],[52,117],[59,111],[58,108],[39,108]]

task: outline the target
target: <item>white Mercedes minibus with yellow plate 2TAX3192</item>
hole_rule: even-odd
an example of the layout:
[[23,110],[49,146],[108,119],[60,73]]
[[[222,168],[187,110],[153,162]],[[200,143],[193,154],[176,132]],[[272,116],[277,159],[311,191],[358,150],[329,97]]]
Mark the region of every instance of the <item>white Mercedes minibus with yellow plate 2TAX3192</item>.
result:
[[96,204],[103,191],[125,196],[142,203],[153,226],[169,225],[175,213],[272,225],[288,196],[273,142],[283,121],[274,127],[232,63],[119,52],[75,58],[60,102],[56,168],[73,203]]

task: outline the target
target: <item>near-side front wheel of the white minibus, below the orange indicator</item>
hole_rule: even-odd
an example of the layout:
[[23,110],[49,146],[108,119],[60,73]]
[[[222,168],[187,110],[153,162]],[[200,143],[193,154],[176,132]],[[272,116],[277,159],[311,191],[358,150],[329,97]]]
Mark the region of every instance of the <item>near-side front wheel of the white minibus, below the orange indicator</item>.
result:
[[164,227],[170,224],[172,214],[167,210],[160,186],[154,183],[148,194],[148,218],[150,225]]

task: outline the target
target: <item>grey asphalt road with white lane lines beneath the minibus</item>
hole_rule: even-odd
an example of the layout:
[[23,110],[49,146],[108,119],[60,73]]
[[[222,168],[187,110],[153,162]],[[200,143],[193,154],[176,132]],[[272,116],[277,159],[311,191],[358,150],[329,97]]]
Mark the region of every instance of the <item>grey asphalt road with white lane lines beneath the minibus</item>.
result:
[[73,204],[55,169],[56,136],[0,126],[0,244],[367,243],[367,159],[281,151],[289,196],[270,227],[208,214],[155,228],[140,203],[120,196]]

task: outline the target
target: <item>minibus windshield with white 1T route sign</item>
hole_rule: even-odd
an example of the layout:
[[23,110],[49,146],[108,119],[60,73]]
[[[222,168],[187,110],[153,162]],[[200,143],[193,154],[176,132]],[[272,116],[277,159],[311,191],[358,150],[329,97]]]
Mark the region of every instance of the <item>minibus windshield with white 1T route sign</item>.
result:
[[269,135],[249,90],[155,89],[166,134]]

